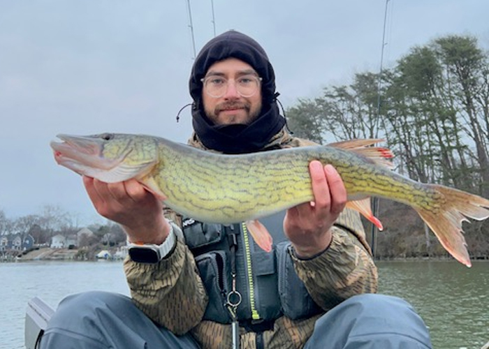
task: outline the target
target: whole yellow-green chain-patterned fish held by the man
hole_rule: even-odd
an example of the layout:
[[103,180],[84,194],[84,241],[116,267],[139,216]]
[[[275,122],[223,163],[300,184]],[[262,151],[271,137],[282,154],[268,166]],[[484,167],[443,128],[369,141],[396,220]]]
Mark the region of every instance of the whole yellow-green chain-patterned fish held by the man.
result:
[[346,207],[380,230],[370,198],[402,202],[417,211],[455,260],[471,261],[462,222],[489,217],[489,200],[439,184],[423,184],[393,171],[393,153],[379,139],[277,149],[252,154],[217,154],[152,135],[101,133],[57,135],[54,159],[78,174],[106,183],[136,179],[164,205],[207,223],[245,222],[258,246],[271,251],[272,238],[259,218],[314,202],[309,163],[331,164],[342,177]]

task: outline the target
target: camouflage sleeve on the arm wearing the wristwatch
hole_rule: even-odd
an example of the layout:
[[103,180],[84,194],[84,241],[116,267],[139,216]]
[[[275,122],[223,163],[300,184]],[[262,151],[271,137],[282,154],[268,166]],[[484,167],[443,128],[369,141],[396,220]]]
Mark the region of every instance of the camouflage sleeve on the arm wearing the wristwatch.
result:
[[[173,227],[177,228],[176,225]],[[188,332],[202,320],[207,293],[194,256],[177,234],[177,246],[156,265],[124,260],[133,302],[149,318],[174,334]]]

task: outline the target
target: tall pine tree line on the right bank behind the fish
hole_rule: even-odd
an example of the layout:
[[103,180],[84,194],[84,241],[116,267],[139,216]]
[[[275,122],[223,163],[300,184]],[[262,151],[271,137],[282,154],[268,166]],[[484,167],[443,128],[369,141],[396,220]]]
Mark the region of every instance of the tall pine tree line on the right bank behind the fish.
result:
[[[286,116],[295,135],[320,144],[384,139],[400,174],[489,198],[488,63],[475,37],[444,36],[411,48],[393,68],[357,73],[351,84],[300,99]],[[376,255],[445,255],[421,219],[405,232],[393,217],[404,215],[402,209],[380,204],[379,214],[388,213],[381,219],[399,226],[376,235]],[[488,258],[489,223],[465,225],[465,232],[471,254]]]

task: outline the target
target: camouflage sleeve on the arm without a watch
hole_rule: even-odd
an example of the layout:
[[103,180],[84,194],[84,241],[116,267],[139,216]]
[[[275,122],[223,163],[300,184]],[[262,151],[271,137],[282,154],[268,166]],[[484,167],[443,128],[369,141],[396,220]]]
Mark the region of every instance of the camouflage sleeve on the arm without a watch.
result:
[[377,292],[377,267],[354,211],[345,210],[338,218],[333,240],[321,255],[300,260],[291,251],[291,257],[295,272],[325,311],[354,295]]

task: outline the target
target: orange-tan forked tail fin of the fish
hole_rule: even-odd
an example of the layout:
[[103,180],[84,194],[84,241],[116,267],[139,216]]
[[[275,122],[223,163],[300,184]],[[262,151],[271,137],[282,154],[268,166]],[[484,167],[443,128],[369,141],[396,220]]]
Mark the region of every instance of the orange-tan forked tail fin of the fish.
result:
[[427,184],[428,187],[441,193],[435,202],[437,211],[415,208],[423,221],[435,233],[442,246],[467,267],[471,267],[467,243],[463,235],[462,222],[472,218],[483,221],[489,218],[489,200],[478,195],[465,193],[458,189]]

